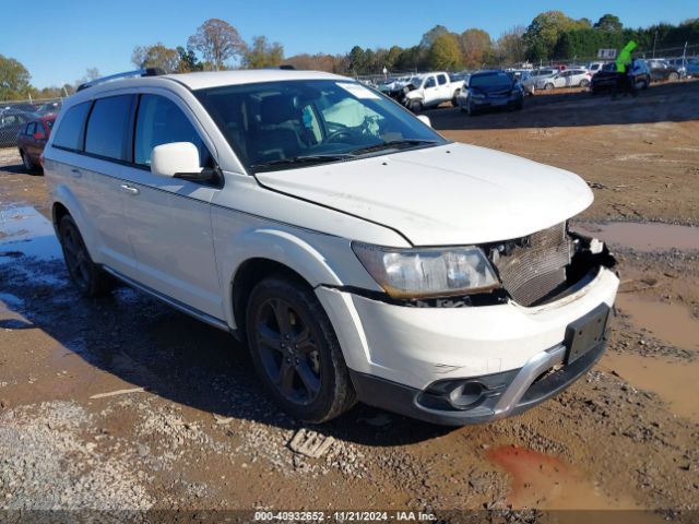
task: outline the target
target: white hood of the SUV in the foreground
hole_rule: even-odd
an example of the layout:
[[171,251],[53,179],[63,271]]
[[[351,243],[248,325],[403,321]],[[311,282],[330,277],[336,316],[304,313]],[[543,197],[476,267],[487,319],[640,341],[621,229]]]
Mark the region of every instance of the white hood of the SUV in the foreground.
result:
[[396,229],[414,246],[523,237],[593,200],[572,172],[459,143],[256,177],[270,189]]

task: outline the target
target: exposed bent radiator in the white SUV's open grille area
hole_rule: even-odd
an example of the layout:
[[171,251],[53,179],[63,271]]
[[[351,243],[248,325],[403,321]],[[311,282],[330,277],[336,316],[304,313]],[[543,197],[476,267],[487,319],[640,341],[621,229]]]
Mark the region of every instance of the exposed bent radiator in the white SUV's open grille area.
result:
[[502,285],[522,306],[532,306],[566,282],[570,245],[566,224],[534,233],[495,257]]

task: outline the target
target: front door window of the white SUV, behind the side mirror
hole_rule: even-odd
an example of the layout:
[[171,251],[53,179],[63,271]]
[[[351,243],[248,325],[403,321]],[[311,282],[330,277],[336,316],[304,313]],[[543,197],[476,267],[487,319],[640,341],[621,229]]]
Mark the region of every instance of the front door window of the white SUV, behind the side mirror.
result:
[[177,105],[157,95],[142,95],[135,121],[133,162],[151,165],[153,147],[173,142],[191,142],[199,150],[200,166],[210,165],[211,155],[199,133]]

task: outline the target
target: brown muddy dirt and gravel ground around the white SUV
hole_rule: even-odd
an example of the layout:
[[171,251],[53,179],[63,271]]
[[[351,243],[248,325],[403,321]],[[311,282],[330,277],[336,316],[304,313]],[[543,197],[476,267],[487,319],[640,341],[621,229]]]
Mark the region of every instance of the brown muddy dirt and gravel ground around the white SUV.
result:
[[[254,509],[699,522],[699,82],[526,102],[427,115],[452,140],[589,182],[595,202],[577,225],[609,236],[623,277],[607,354],[559,396],[494,424],[441,428],[359,405],[307,428],[332,439],[317,458],[291,450],[304,426],[268,401],[226,334],[126,287],[79,298],[50,237],[46,257],[3,246],[9,211],[47,214],[47,192],[0,150],[0,520]],[[546,512],[571,509],[588,513]],[[589,513],[612,509],[651,512]]]

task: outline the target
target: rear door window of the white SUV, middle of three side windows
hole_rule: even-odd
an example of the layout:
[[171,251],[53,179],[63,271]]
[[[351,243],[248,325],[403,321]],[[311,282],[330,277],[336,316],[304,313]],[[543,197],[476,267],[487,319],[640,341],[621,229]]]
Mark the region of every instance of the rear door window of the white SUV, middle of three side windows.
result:
[[85,153],[116,160],[126,159],[125,145],[132,99],[132,95],[121,95],[95,100],[85,131]]

